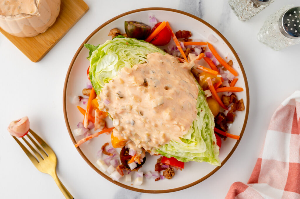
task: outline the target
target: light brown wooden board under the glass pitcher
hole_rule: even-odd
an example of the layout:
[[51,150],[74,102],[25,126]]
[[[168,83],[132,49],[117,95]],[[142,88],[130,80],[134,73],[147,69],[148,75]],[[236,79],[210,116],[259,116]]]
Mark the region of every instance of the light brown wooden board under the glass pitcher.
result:
[[60,13],[54,24],[42,34],[35,37],[16,37],[0,28],[17,48],[31,61],[40,61],[53,46],[75,25],[88,11],[88,5],[83,0],[61,0]]

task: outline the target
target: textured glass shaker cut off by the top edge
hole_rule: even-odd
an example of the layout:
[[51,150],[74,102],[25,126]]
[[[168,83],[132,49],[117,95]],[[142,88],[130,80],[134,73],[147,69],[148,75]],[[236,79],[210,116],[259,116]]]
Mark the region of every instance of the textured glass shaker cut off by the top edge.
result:
[[241,21],[247,21],[265,9],[274,0],[229,0],[233,12]]

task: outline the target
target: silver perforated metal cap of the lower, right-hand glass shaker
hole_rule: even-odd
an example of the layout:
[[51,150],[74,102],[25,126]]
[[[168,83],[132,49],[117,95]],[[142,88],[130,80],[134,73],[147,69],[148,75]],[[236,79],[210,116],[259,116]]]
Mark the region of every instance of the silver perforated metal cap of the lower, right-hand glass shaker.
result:
[[300,7],[286,10],[279,18],[280,32],[291,39],[300,38]]

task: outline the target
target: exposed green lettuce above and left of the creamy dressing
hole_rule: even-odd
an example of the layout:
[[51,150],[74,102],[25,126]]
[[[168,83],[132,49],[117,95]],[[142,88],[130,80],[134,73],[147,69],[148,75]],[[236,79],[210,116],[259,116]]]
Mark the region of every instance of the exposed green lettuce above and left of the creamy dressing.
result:
[[[93,49],[89,46],[89,49]],[[95,47],[95,46],[94,46]],[[105,83],[118,75],[123,67],[132,68],[136,64],[147,61],[147,54],[159,52],[166,54],[160,48],[144,40],[126,37],[115,37],[98,46],[90,57],[90,80],[97,95]]]

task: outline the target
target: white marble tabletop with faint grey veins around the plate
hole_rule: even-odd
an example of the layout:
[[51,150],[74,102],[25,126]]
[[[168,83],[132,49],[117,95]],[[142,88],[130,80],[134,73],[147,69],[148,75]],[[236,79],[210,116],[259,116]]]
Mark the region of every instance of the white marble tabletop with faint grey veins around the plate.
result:
[[90,10],[38,63],[31,62],[0,35],[0,198],[64,198],[52,178],[32,165],[6,130],[11,120],[26,115],[31,128],[55,151],[58,176],[75,199],[224,198],[232,183],[246,183],[274,110],[300,87],[300,45],[274,51],[258,42],[256,34],[268,15],[284,4],[300,5],[299,1],[275,1],[248,22],[240,22],[226,0],[202,0],[200,4],[199,0],[189,1],[192,7],[198,4],[202,7],[202,19],[217,28],[240,54],[249,83],[249,118],[240,144],[215,174],[188,189],[157,195],[123,189],[101,177],[81,158],[64,122],[64,78],[79,45],[107,20],[143,7],[169,7],[189,12],[188,6],[179,0],[85,2]]

